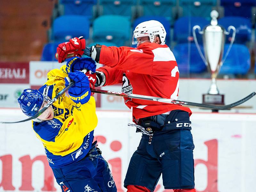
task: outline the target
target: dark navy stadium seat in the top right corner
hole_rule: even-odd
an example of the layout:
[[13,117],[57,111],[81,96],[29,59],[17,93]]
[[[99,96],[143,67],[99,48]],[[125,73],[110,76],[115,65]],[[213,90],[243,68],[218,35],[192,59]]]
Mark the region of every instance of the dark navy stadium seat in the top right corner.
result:
[[255,0],[220,0],[220,5],[224,7],[225,16],[240,16],[251,18],[252,6],[256,6]]

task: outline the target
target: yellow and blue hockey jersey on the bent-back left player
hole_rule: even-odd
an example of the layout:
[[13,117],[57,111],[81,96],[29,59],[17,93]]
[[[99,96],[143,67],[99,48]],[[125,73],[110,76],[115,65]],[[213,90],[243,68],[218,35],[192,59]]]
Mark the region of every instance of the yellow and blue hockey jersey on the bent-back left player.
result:
[[[50,99],[64,87],[66,65],[47,74],[47,82],[38,90]],[[73,102],[66,92],[52,105],[54,118],[33,122],[36,136],[42,141],[49,165],[60,168],[86,156],[92,146],[93,130],[97,126],[94,97],[81,105]]]

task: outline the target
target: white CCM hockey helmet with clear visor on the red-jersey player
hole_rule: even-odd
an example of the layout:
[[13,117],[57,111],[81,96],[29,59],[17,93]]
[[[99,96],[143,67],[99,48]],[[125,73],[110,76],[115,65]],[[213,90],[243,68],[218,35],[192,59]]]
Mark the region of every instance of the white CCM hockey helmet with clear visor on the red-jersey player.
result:
[[133,31],[132,44],[138,44],[137,38],[144,36],[149,36],[149,41],[153,43],[156,35],[160,36],[161,45],[164,45],[166,31],[162,23],[156,20],[142,22]]

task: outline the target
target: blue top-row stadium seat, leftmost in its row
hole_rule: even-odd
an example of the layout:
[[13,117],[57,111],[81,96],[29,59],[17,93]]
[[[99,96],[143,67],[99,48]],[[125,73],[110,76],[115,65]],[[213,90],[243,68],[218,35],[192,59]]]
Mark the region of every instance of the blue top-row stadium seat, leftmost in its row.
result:
[[92,7],[97,0],[60,0],[60,4],[64,6],[64,15],[84,15],[92,19]]

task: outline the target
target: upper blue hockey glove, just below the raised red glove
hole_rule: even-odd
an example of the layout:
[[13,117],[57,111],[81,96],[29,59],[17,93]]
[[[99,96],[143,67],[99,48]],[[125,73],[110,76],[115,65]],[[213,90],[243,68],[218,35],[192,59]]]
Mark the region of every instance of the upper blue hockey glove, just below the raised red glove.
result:
[[87,69],[88,71],[92,71],[94,73],[96,70],[96,62],[89,57],[72,57],[71,59],[67,60],[67,73],[75,72],[76,70],[81,71],[82,69]]

